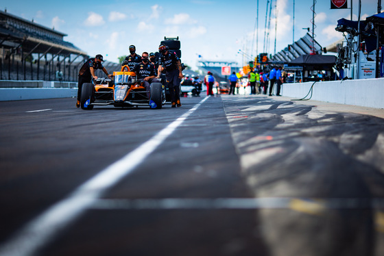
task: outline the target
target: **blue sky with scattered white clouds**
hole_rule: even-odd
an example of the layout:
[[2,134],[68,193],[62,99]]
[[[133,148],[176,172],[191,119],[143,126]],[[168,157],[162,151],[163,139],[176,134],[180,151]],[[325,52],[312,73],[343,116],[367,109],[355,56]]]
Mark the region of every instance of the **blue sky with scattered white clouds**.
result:
[[[264,44],[267,0],[259,0],[259,29],[255,29],[257,0],[245,1],[8,1],[0,9],[29,21],[67,34],[88,55],[101,53],[106,60],[128,54],[130,44],[139,54],[157,51],[164,36],[179,36],[182,61],[194,67],[201,55],[205,60],[241,62],[249,55],[269,49],[274,54],[277,8],[276,52],[293,40],[293,0],[273,0],[269,46]],[[295,1],[295,40],[311,27],[311,0]],[[348,0],[350,5],[350,0]],[[275,8],[276,6],[276,8]],[[331,10],[330,0],[315,4],[317,42],[326,47],[342,37],[335,31],[339,18],[349,18],[350,10]],[[362,0],[361,16],[377,12],[377,0]],[[353,17],[357,20],[358,0],[353,0]],[[256,34],[259,35],[256,47]],[[253,48],[252,48],[253,46]],[[239,50],[241,49],[240,53]]]

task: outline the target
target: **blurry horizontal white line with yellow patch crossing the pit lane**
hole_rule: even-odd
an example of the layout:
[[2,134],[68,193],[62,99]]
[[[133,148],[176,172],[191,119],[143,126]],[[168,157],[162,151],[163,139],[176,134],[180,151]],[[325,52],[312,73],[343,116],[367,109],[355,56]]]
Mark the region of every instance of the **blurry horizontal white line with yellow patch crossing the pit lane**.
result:
[[327,209],[383,209],[384,199],[357,198],[217,198],[217,199],[98,199],[91,209],[291,209],[319,213]]

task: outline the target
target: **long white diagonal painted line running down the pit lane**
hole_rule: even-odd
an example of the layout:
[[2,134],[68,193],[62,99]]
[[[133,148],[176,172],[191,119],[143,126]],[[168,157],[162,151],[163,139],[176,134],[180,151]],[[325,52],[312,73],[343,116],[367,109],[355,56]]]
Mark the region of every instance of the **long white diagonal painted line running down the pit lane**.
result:
[[48,244],[67,225],[79,218],[109,188],[129,175],[143,160],[168,138],[183,122],[197,110],[205,97],[188,112],[167,125],[155,136],[125,155],[119,161],[101,170],[95,177],[86,181],[66,199],[52,205],[43,214],[27,223],[8,242],[0,247],[1,256],[36,255],[38,250]]

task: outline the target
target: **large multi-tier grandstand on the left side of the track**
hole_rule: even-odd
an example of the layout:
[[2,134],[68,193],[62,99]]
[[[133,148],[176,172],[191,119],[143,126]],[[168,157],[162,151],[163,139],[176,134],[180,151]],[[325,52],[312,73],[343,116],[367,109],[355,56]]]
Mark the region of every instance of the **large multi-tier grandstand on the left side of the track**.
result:
[[64,36],[0,11],[0,80],[77,81],[88,55]]

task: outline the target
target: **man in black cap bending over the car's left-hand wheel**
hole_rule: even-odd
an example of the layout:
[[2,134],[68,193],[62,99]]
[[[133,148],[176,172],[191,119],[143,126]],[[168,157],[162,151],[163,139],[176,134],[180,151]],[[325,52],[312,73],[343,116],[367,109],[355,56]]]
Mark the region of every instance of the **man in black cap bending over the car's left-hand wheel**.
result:
[[101,64],[101,62],[104,62],[103,55],[97,54],[96,57],[91,57],[90,59],[86,60],[86,62],[83,64],[83,66],[80,68],[79,71],[79,80],[78,80],[78,90],[77,90],[77,102],[76,107],[80,107],[80,99],[82,97],[82,86],[84,83],[91,83],[91,79],[97,79],[97,76],[95,75],[95,69],[101,69],[108,75],[109,78],[112,78],[112,75],[108,74],[108,71],[104,66]]

